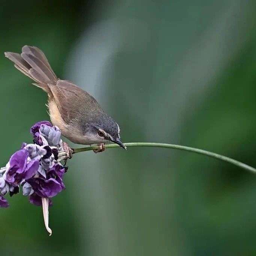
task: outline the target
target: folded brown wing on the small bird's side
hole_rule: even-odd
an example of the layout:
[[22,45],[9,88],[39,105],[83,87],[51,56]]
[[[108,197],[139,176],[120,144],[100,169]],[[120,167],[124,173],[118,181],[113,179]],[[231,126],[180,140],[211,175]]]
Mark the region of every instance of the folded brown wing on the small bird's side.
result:
[[67,124],[78,115],[86,113],[91,106],[99,106],[93,96],[70,81],[58,80],[56,84],[49,84],[49,88],[61,117]]

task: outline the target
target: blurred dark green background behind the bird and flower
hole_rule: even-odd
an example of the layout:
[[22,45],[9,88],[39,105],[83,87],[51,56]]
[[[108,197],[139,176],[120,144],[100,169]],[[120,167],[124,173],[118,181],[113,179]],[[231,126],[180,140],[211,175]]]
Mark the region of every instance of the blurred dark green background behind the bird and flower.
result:
[[[93,94],[124,142],[256,166],[255,10],[254,0],[1,1],[0,166],[49,120],[46,94],[4,58],[23,45]],[[256,255],[252,173],[161,148],[84,152],[68,164],[52,237],[40,207],[7,197],[0,255]]]

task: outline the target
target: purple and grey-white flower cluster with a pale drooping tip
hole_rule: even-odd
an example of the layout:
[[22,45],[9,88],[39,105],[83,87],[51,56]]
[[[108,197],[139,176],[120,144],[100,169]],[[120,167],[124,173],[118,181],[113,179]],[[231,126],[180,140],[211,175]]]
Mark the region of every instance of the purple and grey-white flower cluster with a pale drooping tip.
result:
[[61,132],[48,121],[41,121],[31,127],[30,133],[34,144],[23,143],[0,169],[0,207],[9,206],[4,195],[8,192],[10,196],[17,194],[22,187],[23,195],[28,196],[32,204],[43,207],[48,226],[50,198],[65,189],[63,175],[67,168],[58,162],[58,153],[63,151]]

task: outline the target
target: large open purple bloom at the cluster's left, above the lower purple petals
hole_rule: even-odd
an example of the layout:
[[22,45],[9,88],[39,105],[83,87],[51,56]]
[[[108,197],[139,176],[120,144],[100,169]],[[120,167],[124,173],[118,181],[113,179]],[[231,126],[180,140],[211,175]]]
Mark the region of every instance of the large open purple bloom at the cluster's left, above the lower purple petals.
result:
[[10,157],[9,164],[5,180],[13,186],[18,186],[23,179],[27,180],[33,177],[39,168],[38,160],[28,162],[28,152],[25,149],[16,151]]

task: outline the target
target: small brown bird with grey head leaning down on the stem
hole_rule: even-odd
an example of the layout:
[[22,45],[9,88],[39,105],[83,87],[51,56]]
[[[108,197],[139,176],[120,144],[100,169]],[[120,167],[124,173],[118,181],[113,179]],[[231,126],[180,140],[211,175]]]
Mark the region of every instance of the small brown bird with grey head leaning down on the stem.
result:
[[[96,99],[70,81],[57,78],[45,54],[35,46],[23,46],[22,53],[5,52],[15,67],[33,79],[37,87],[48,94],[48,109],[51,121],[61,133],[77,144],[98,144],[105,150],[105,143],[114,142],[126,149],[120,140],[118,124],[100,107]],[[65,143],[69,157],[72,150]]]

